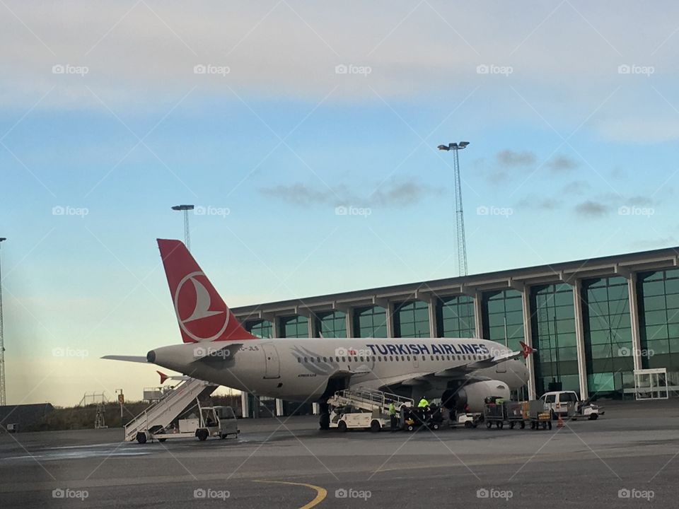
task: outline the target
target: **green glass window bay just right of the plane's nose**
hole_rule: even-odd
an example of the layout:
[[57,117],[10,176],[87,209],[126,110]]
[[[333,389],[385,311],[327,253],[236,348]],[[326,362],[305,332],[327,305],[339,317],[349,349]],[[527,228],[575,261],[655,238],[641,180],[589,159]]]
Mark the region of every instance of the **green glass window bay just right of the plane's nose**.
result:
[[530,288],[535,392],[580,391],[573,289],[566,283]]

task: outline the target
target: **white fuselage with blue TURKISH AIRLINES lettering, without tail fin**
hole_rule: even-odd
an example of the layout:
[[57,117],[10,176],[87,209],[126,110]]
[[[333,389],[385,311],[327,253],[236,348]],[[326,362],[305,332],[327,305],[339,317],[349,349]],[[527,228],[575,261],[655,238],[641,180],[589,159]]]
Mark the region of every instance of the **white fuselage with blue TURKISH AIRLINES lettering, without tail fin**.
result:
[[[345,378],[348,387],[378,389],[448,370],[434,379],[434,386],[427,384],[429,390],[440,392],[455,368],[463,378],[463,366],[509,351],[487,339],[248,339],[163,346],[147,358],[192,378],[259,396],[316,401],[331,378]],[[526,365],[518,360],[478,369],[473,375],[500,380],[511,390],[528,380]]]

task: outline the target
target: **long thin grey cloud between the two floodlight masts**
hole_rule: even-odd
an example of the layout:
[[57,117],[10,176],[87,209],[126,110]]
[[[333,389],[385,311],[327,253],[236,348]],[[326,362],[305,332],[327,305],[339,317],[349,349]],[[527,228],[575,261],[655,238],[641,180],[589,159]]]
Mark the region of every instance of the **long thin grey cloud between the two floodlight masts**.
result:
[[[296,182],[291,185],[276,185],[257,189],[261,194],[285,201],[295,206],[351,205],[351,206],[409,206],[426,197],[443,194],[443,189],[423,185],[417,180],[399,181],[395,178],[382,182],[371,194],[358,194],[346,185],[326,189],[313,189]],[[371,187],[368,187],[371,189]]]

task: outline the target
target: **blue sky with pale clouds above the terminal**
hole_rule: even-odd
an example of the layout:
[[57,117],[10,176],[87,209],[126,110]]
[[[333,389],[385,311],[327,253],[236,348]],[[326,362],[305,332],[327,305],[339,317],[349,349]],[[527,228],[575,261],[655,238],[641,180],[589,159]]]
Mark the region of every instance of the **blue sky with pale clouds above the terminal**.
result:
[[158,385],[156,238],[231,306],[679,245],[679,5],[0,2],[7,399]]

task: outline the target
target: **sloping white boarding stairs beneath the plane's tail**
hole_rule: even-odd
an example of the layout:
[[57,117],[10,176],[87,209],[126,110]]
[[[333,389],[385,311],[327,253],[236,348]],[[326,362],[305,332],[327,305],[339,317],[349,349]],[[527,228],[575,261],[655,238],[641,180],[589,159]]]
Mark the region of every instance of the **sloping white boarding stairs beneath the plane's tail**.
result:
[[132,442],[137,439],[139,432],[156,432],[170,426],[170,423],[189,408],[196,398],[209,397],[217,387],[196,378],[182,380],[173,390],[165,392],[161,399],[125,425],[125,440]]

